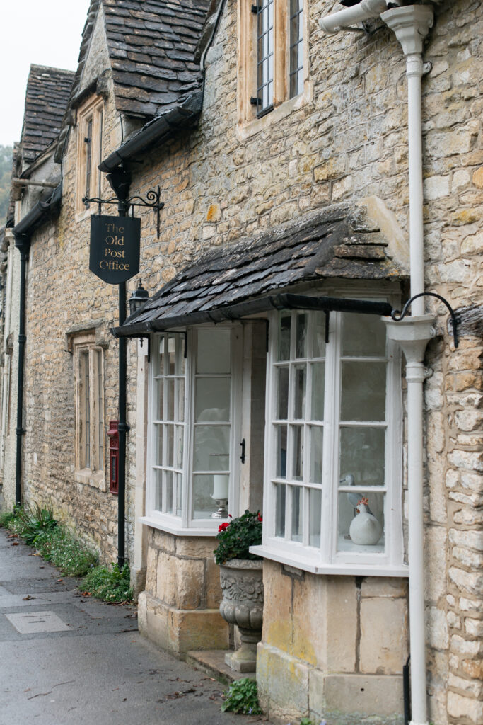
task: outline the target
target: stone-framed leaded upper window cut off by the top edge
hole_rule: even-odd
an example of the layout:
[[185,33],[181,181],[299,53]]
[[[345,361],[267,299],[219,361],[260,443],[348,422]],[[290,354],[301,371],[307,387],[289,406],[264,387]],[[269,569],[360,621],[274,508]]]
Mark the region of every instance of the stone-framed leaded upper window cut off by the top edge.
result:
[[247,125],[306,91],[306,0],[238,7],[238,115],[240,125]]

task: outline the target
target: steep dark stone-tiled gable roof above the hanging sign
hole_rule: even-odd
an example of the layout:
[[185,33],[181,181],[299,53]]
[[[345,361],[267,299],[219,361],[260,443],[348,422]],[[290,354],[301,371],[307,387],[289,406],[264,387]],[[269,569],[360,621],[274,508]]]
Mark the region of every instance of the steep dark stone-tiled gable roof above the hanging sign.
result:
[[80,94],[99,4],[119,111],[152,118],[176,104],[187,88],[201,84],[194,56],[209,0],[91,0],[72,99]]

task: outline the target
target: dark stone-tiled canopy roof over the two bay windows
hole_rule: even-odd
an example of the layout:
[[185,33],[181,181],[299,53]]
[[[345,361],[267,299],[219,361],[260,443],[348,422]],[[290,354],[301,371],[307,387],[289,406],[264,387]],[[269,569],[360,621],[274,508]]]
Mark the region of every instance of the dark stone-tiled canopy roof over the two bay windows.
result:
[[[405,263],[396,259],[396,247],[394,239],[369,218],[364,204],[325,207],[202,254],[112,333],[142,336],[283,307],[349,309],[347,303],[353,300],[324,304],[329,298],[311,302],[301,295],[269,293],[324,278],[405,279],[408,272]],[[365,304],[375,305],[371,311],[376,314],[390,314],[386,303]]]

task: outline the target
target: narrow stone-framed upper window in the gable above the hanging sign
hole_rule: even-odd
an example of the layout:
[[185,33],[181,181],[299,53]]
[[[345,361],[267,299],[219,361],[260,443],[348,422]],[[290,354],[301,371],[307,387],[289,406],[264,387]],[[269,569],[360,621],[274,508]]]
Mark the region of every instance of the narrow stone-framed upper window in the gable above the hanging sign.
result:
[[100,196],[104,131],[104,101],[88,99],[77,111],[77,211],[85,210],[84,197]]

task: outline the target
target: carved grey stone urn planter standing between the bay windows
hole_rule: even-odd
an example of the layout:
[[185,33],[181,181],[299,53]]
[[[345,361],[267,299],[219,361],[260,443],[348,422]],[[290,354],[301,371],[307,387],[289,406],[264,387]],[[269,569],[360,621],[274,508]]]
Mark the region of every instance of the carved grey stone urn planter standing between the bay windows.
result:
[[241,645],[224,657],[238,672],[256,670],[256,645],[261,639],[264,615],[263,561],[230,559],[219,568],[223,599],[219,612],[240,630]]

